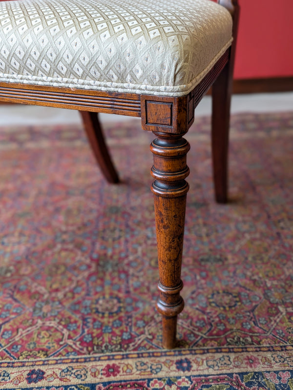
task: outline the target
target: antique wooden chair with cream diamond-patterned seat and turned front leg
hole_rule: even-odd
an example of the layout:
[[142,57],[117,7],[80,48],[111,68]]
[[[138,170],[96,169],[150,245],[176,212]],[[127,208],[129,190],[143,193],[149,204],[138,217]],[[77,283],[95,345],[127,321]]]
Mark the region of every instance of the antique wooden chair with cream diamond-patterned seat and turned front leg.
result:
[[[182,138],[213,84],[216,200],[227,200],[237,0],[15,0],[0,3],[0,101],[79,110],[98,163],[118,181],[97,113],[138,116],[152,131],[159,260],[157,309],[173,348],[189,169]],[[223,5],[223,6],[222,6]],[[231,17],[232,16],[232,17]],[[234,41],[233,41],[233,38]],[[135,145],[133,145],[135,147]]]

